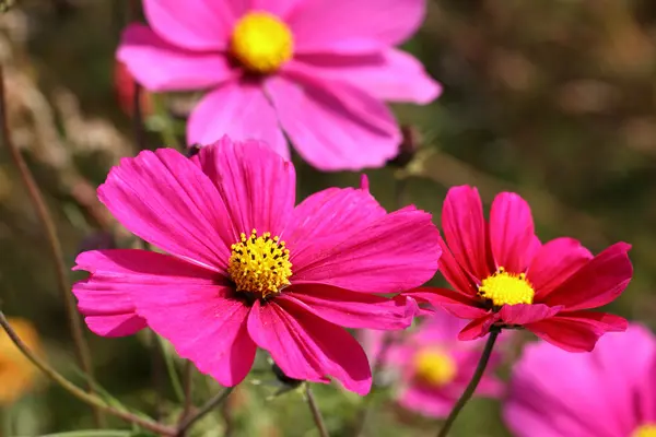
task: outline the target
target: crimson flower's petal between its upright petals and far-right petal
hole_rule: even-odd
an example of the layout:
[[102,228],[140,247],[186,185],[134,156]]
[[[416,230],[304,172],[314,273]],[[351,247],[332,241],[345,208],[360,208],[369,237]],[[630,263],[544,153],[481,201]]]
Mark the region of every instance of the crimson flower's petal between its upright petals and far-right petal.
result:
[[573,238],[555,238],[544,244],[527,272],[536,291],[535,300],[548,296],[593,258],[590,251]]

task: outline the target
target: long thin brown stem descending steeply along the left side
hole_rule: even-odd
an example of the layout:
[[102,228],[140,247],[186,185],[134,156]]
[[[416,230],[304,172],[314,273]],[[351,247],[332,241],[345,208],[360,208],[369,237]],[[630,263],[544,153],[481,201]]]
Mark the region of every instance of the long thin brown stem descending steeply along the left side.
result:
[[[75,347],[75,356],[78,358],[78,363],[82,370],[86,374],[89,380],[89,391],[93,393],[93,365],[91,361],[91,353],[89,351],[89,344],[86,343],[86,339],[84,338],[84,332],[82,330],[82,322],[80,315],[77,310],[75,300],[73,298],[73,294],[71,293],[71,286],[68,280],[68,270],[66,268],[66,262],[63,260],[63,252],[61,250],[61,243],[59,241],[59,237],[57,236],[57,228],[55,227],[55,221],[44,201],[43,194],[25,163],[23,160],[23,155],[19,149],[14,145],[11,140],[11,133],[9,131],[9,114],[7,108],[7,93],[5,93],[5,83],[4,83],[4,68],[0,66],[0,129],[2,137],[2,143],[9,150],[9,154],[11,155],[12,161],[19,169],[21,175],[21,179],[27,189],[27,196],[36,211],[36,215],[42,224],[44,233],[46,235],[46,239],[48,241],[48,249],[50,251],[50,257],[52,258],[52,262],[55,263],[55,272],[57,276],[57,287],[63,300],[63,305],[66,307],[66,314],[68,319],[69,329],[71,331],[71,336],[73,338],[73,344]],[[104,424],[104,418],[102,413],[97,409],[93,409],[94,420],[96,426],[102,427]]]

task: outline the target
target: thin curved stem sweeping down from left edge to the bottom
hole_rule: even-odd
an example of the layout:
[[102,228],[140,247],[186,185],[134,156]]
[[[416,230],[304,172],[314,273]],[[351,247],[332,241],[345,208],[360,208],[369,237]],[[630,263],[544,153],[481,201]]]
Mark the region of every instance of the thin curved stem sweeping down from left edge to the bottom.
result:
[[27,359],[30,359],[30,362],[32,362],[32,364],[34,364],[44,375],[46,375],[48,378],[50,378],[54,382],[59,385],[62,389],[65,389],[66,391],[71,393],[73,397],[78,398],[80,401],[87,403],[92,406],[95,406],[96,409],[102,410],[107,414],[112,414],[118,418],[121,418],[126,422],[138,425],[138,426],[140,426],[144,429],[151,430],[153,433],[157,433],[162,436],[169,436],[169,437],[176,436],[177,430],[175,428],[162,425],[157,422],[153,422],[150,418],[144,418],[144,417],[138,416],[128,411],[119,410],[115,406],[108,405],[102,399],[97,398],[95,394],[92,394],[92,393],[89,393],[89,392],[82,390],[81,388],[79,388],[78,386],[75,386],[68,379],[66,379],[60,373],[55,370],[47,363],[45,363],[38,356],[36,356],[27,347],[27,345],[25,343],[23,343],[23,341],[16,334],[16,332],[13,330],[11,324],[9,324],[9,321],[7,320],[7,317],[4,317],[4,314],[2,311],[0,311],[0,326],[2,327],[2,329],[4,329],[4,331],[11,339],[11,341],[19,349],[19,351],[21,351],[21,353],[23,353],[23,355],[25,355],[25,357]]

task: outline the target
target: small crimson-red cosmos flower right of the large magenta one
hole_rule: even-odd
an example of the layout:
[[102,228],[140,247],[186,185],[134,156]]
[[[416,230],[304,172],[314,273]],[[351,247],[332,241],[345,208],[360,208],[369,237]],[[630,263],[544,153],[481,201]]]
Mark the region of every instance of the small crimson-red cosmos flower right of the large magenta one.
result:
[[408,295],[471,319],[460,340],[494,327],[524,327],[571,352],[591,351],[604,333],[623,331],[626,320],[588,309],[606,305],[626,287],[633,269],[625,243],[596,257],[572,238],[542,245],[530,208],[502,192],[483,217],[478,190],[452,188],[442,210],[444,239],[440,271],[455,288],[424,288]]

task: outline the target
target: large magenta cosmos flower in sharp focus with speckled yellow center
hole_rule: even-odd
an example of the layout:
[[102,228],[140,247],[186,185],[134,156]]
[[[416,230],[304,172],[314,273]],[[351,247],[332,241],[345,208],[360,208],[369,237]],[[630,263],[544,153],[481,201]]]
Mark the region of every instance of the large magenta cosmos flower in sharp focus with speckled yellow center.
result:
[[222,385],[242,381],[256,346],[291,378],[354,392],[366,356],[341,327],[402,329],[412,299],[389,299],[437,270],[438,233],[413,206],[386,213],[361,189],[294,208],[294,167],[259,142],[227,138],[187,160],[172,149],[124,158],[98,188],[128,229],[171,255],[81,253],[73,293],[99,335],[147,324]]

